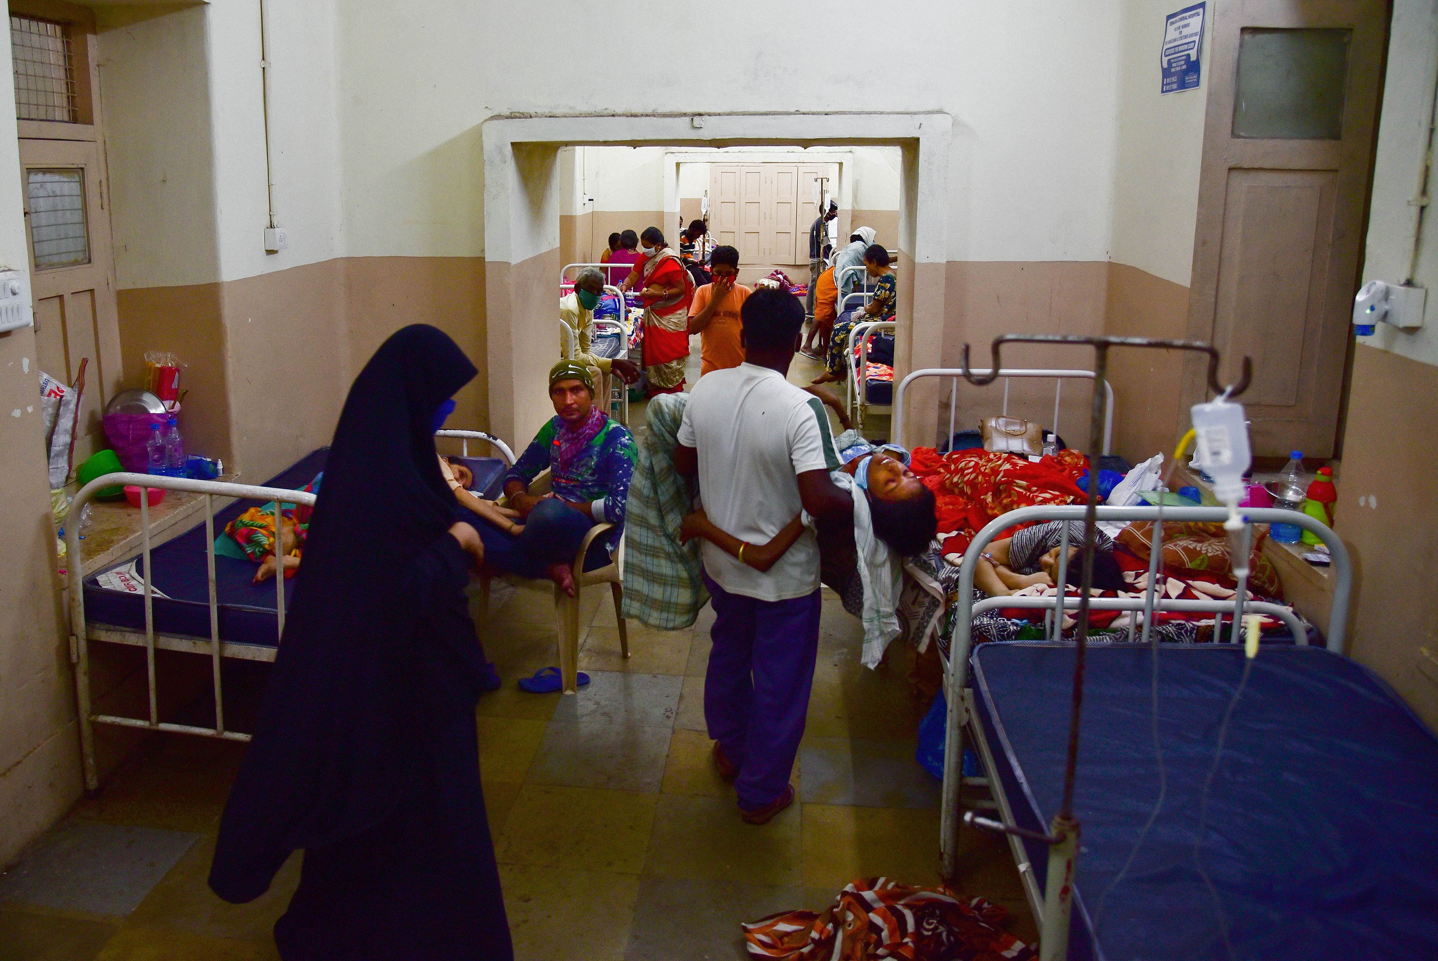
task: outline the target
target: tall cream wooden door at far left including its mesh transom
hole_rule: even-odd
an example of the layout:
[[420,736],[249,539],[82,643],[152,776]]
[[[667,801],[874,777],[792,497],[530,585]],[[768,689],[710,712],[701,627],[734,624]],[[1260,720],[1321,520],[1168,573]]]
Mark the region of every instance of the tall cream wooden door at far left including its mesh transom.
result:
[[36,360],[65,383],[86,363],[76,465],[122,380],[93,36],[83,7],[10,4]]

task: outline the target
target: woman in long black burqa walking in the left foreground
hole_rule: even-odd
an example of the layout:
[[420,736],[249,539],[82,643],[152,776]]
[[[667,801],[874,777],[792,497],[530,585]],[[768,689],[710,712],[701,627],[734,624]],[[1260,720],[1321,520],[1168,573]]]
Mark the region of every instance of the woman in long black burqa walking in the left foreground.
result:
[[436,420],[475,373],[443,332],[407,327],[339,414],[210,867],[210,888],[244,902],[305,849],[275,924],[285,961],[513,957],[479,783],[485,655],[464,600],[482,548],[434,453]]

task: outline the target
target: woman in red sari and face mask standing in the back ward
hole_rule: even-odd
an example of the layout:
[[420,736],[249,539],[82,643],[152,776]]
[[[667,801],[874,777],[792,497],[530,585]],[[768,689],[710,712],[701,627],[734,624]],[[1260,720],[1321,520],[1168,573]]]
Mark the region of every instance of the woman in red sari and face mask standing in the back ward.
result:
[[659,227],[646,227],[640,243],[644,259],[634,265],[620,288],[638,289],[644,301],[646,393],[650,397],[677,394],[684,388],[684,361],[689,360],[693,281]]

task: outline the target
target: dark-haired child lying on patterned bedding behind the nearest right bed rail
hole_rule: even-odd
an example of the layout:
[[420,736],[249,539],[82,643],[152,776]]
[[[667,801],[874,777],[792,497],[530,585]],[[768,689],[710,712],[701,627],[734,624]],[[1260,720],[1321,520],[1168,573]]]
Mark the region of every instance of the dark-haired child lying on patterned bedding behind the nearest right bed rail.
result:
[[[1080,548],[1083,521],[1068,521],[1068,567],[1064,580],[1077,586],[1083,574]],[[1058,551],[1063,548],[1064,521],[1050,521],[1015,531],[1012,537],[991,541],[974,570],[974,586],[989,597],[1008,597],[1025,587],[1053,587],[1058,577]],[[1116,591],[1126,587],[1123,571],[1113,560],[1113,541],[1096,529],[1093,588]]]

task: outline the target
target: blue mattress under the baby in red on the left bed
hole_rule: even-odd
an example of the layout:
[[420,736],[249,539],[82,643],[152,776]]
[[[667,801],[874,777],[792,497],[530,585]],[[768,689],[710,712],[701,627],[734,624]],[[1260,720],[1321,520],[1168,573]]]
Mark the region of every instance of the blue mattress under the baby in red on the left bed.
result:
[[[260,486],[298,489],[309,483],[325,469],[328,447],[306,455],[299,462],[270,478]],[[475,473],[473,489],[483,496],[498,496],[503,486],[505,462],[498,457],[454,457],[469,465]],[[224,525],[259,501],[236,501],[214,515],[216,535]],[[151,552],[154,577],[151,586],[165,597],[152,598],[155,630],[162,634],[210,637],[210,586],[206,575],[204,519],[181,534],[154,548]],[[132,557],[114,564],[105,571],[135,564],[137,573],[145,575],[142,557]],[[220,601],[220,639],[230,643],[276,646],[275,581],[255,584],[256,565],[233,557],[214,558],[216,593]],[[92,626],[145,629],[144,594],[106,590],[98,584],[105,571],[85,578],[85,619]],[[285,603],[293,598],[295,581],[285,583]]]

